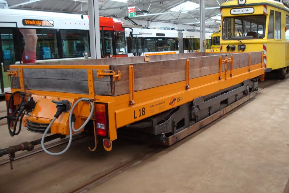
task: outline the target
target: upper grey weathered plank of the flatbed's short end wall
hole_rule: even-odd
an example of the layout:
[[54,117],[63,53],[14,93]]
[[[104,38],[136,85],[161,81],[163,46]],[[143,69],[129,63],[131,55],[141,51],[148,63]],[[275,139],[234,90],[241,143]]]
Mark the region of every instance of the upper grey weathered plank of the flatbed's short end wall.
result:
[[[59,79],[59,80],[88,80],[87,69],[23,69],[25,78]],[[96,69],[93,70],[93,80],[110,81],[110,76],[97,78]]]

